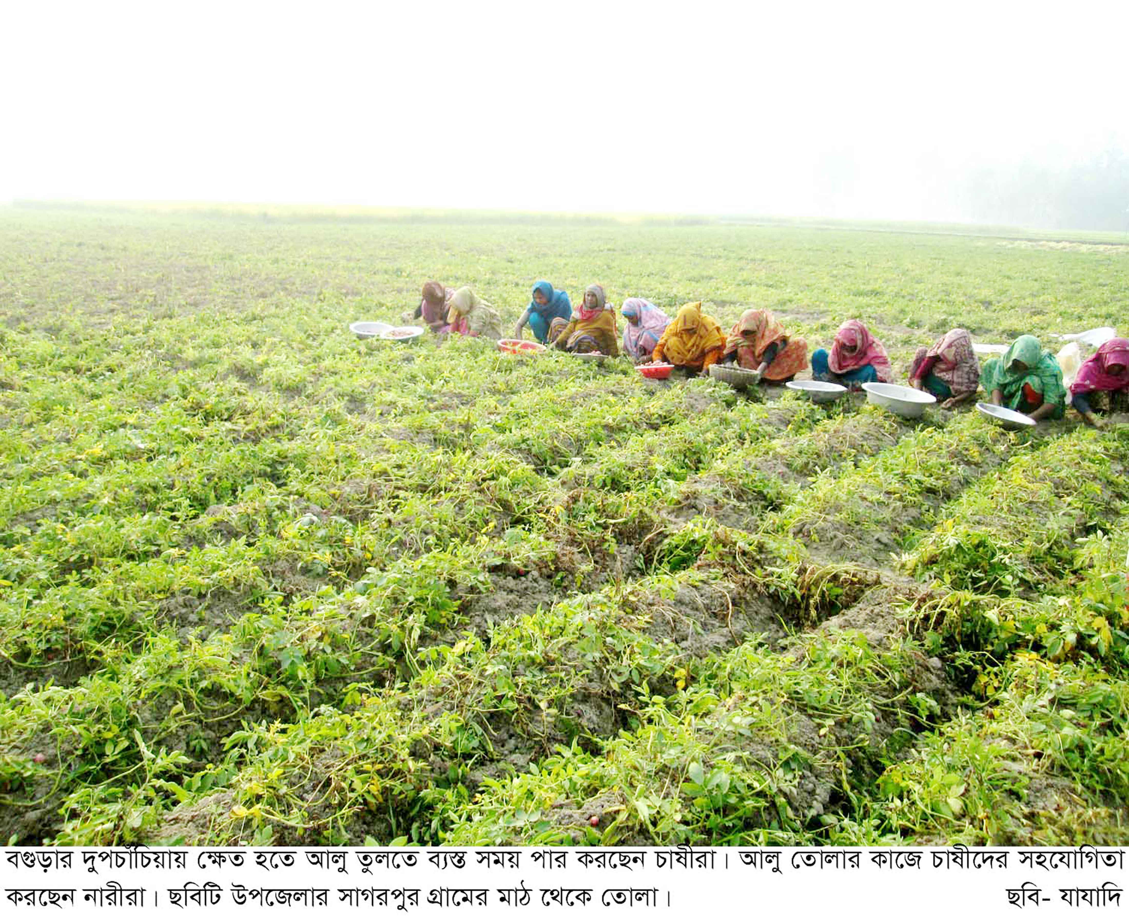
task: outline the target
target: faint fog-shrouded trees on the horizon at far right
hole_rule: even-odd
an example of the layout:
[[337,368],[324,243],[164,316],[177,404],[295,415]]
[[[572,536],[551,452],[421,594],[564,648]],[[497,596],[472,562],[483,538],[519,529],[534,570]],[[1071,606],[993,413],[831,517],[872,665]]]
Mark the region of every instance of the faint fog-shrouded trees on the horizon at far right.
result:
[[1111,148],[1067,168],[981,168],[964,195],[972,221],[1129,232],[1129,156]]

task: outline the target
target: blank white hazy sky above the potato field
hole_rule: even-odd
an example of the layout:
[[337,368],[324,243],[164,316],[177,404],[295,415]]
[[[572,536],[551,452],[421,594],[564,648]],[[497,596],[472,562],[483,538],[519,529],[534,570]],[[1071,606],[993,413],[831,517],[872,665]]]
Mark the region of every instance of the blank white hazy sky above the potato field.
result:
[[2,9],[0,201],[948,218],[1129,148],[1129,0]]

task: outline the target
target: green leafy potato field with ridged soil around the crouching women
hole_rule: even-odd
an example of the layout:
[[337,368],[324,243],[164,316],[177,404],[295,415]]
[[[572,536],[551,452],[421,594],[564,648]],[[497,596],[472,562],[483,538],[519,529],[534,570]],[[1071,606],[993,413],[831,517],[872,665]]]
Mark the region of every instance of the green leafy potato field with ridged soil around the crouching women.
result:
[[427,279],[1124,327],[1085,237],[0,211],[10,844],[1129,841],[1129,425],[359,341]]

